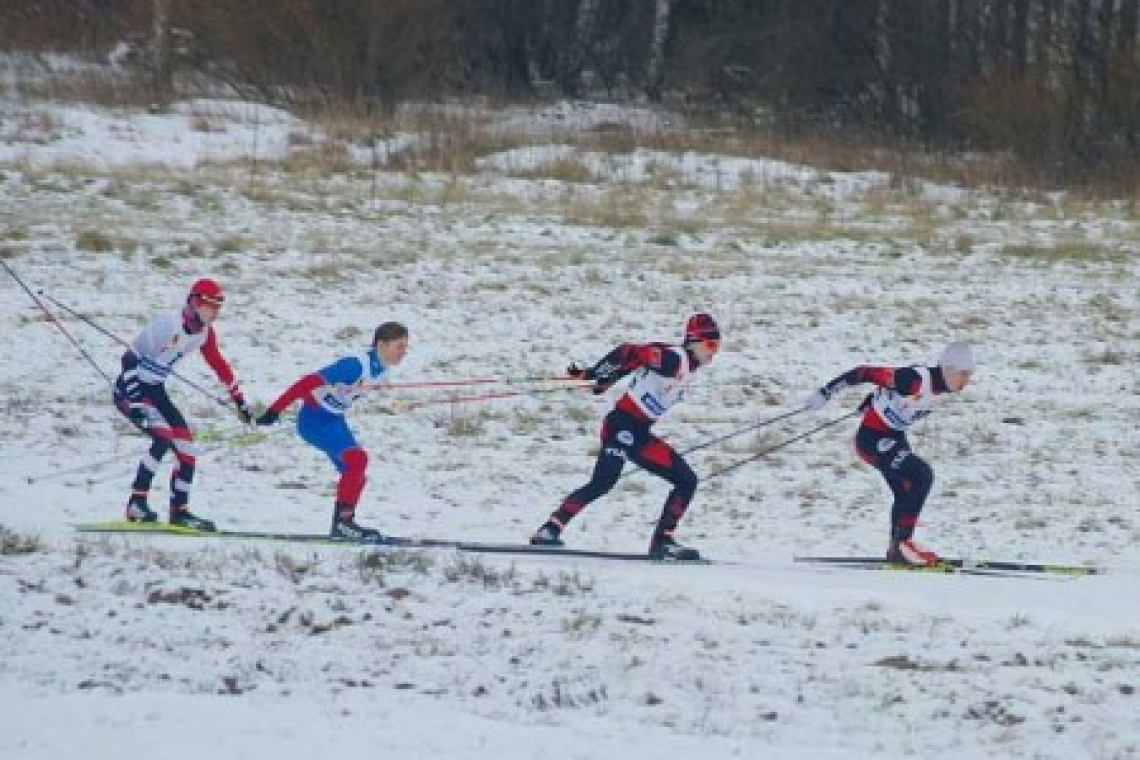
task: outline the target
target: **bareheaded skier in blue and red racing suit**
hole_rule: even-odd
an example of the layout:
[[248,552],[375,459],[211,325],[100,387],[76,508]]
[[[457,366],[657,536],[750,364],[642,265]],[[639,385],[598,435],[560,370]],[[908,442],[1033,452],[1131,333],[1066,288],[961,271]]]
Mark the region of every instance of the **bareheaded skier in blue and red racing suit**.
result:
[[408,328],[399,322],[384,322],[376,328],[370,350],[343,357],[324,369],[306,375],[258,417],[259,425],[272,425],[291,403],[302,401],[296,432],[306,443],[324,451],[341,474],[329,530],[334,538],[373,544],[384,541],[380,531],[356,522],[368,455],[349,430],[345,412],[367,393],[365,386],[377,384],[390,367],[404,360],[407,351]]

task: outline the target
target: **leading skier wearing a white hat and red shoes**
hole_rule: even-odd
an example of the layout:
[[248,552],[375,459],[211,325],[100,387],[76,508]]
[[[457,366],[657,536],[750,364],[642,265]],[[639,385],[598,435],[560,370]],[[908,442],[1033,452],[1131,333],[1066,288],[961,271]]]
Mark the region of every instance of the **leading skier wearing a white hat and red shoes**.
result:
[[964,389],[974,367],[970,345],[951,343],[943,350],[936,367],[855,367],[804,402],[805,408],[816,411],[846,387],[864,383],[878,386],[860,407],[865,412],[855,433],[855,451],[882,474],[895,497],[890,508],[888,562],[911,565],[938,562],[936,553],[913,539],[919,513],[934,484],[934,469],[911,450],[906,431],[930,415],[934,397]]

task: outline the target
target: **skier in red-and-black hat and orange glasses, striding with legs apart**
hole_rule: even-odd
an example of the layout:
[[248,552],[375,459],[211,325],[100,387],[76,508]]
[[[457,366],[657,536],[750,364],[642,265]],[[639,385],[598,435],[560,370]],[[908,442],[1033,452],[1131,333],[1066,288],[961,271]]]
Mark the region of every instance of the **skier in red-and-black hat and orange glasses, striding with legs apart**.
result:
[[632,374],[626,392],[602,423],[602,448],[591,481],[562,500],[549,518],[530,538],[536,546],[563,546],[562,530],[592,501],[613,488],[626,460],[633,461],[673,484],[650,540],[653,559],[699,559],[697,549],[674,538],[677,523],[697,491],[697,474],[668,443],[653,434],[660,419],[685,395],[693,373],[712,361],[720,348],[720,330],[707,313],[689,318],[681,345],[625,343],[593,367],[571,365],[569,373],[593,381],[594,392],[603,393]]

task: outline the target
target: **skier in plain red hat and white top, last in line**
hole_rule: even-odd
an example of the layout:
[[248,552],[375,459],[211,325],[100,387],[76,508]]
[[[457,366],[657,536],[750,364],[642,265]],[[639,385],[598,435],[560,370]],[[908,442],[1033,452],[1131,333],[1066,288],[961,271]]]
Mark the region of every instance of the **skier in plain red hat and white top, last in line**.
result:
[[163,456],[174,450],[178,464],[170,476],[171,525],[197,530],[214,530],[213,522],[193,514],[187,507],[190,483],[198,455],[182,412],[166,395],[165,381],[174,365],[186,354],[201,351],[218,379],[229,391],[243,422],[252,416],[234,371],[218,349],[213,322],[218,319],[226,296],[221,286],[203,278],[194,283],[180,311],[154,317],[131,346],[123,353],[122,373],[115,379],[115,407],[140,431],[150,436],[150,448],[139,460],[138,472],[127,502],[127,520],[150,523],[157,515],[147,504],[147,493]]

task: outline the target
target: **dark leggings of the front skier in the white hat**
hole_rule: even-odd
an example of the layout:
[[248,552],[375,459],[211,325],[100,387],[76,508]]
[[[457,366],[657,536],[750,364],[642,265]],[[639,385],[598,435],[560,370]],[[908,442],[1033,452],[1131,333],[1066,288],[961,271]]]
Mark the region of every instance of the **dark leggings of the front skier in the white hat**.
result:
[[911,450],[901,432],[881,433],[863,425],[855,433],[855,450],[882,474],[895,497],[890,507],[890,537],[911,538],[934,485],[934,469]]

